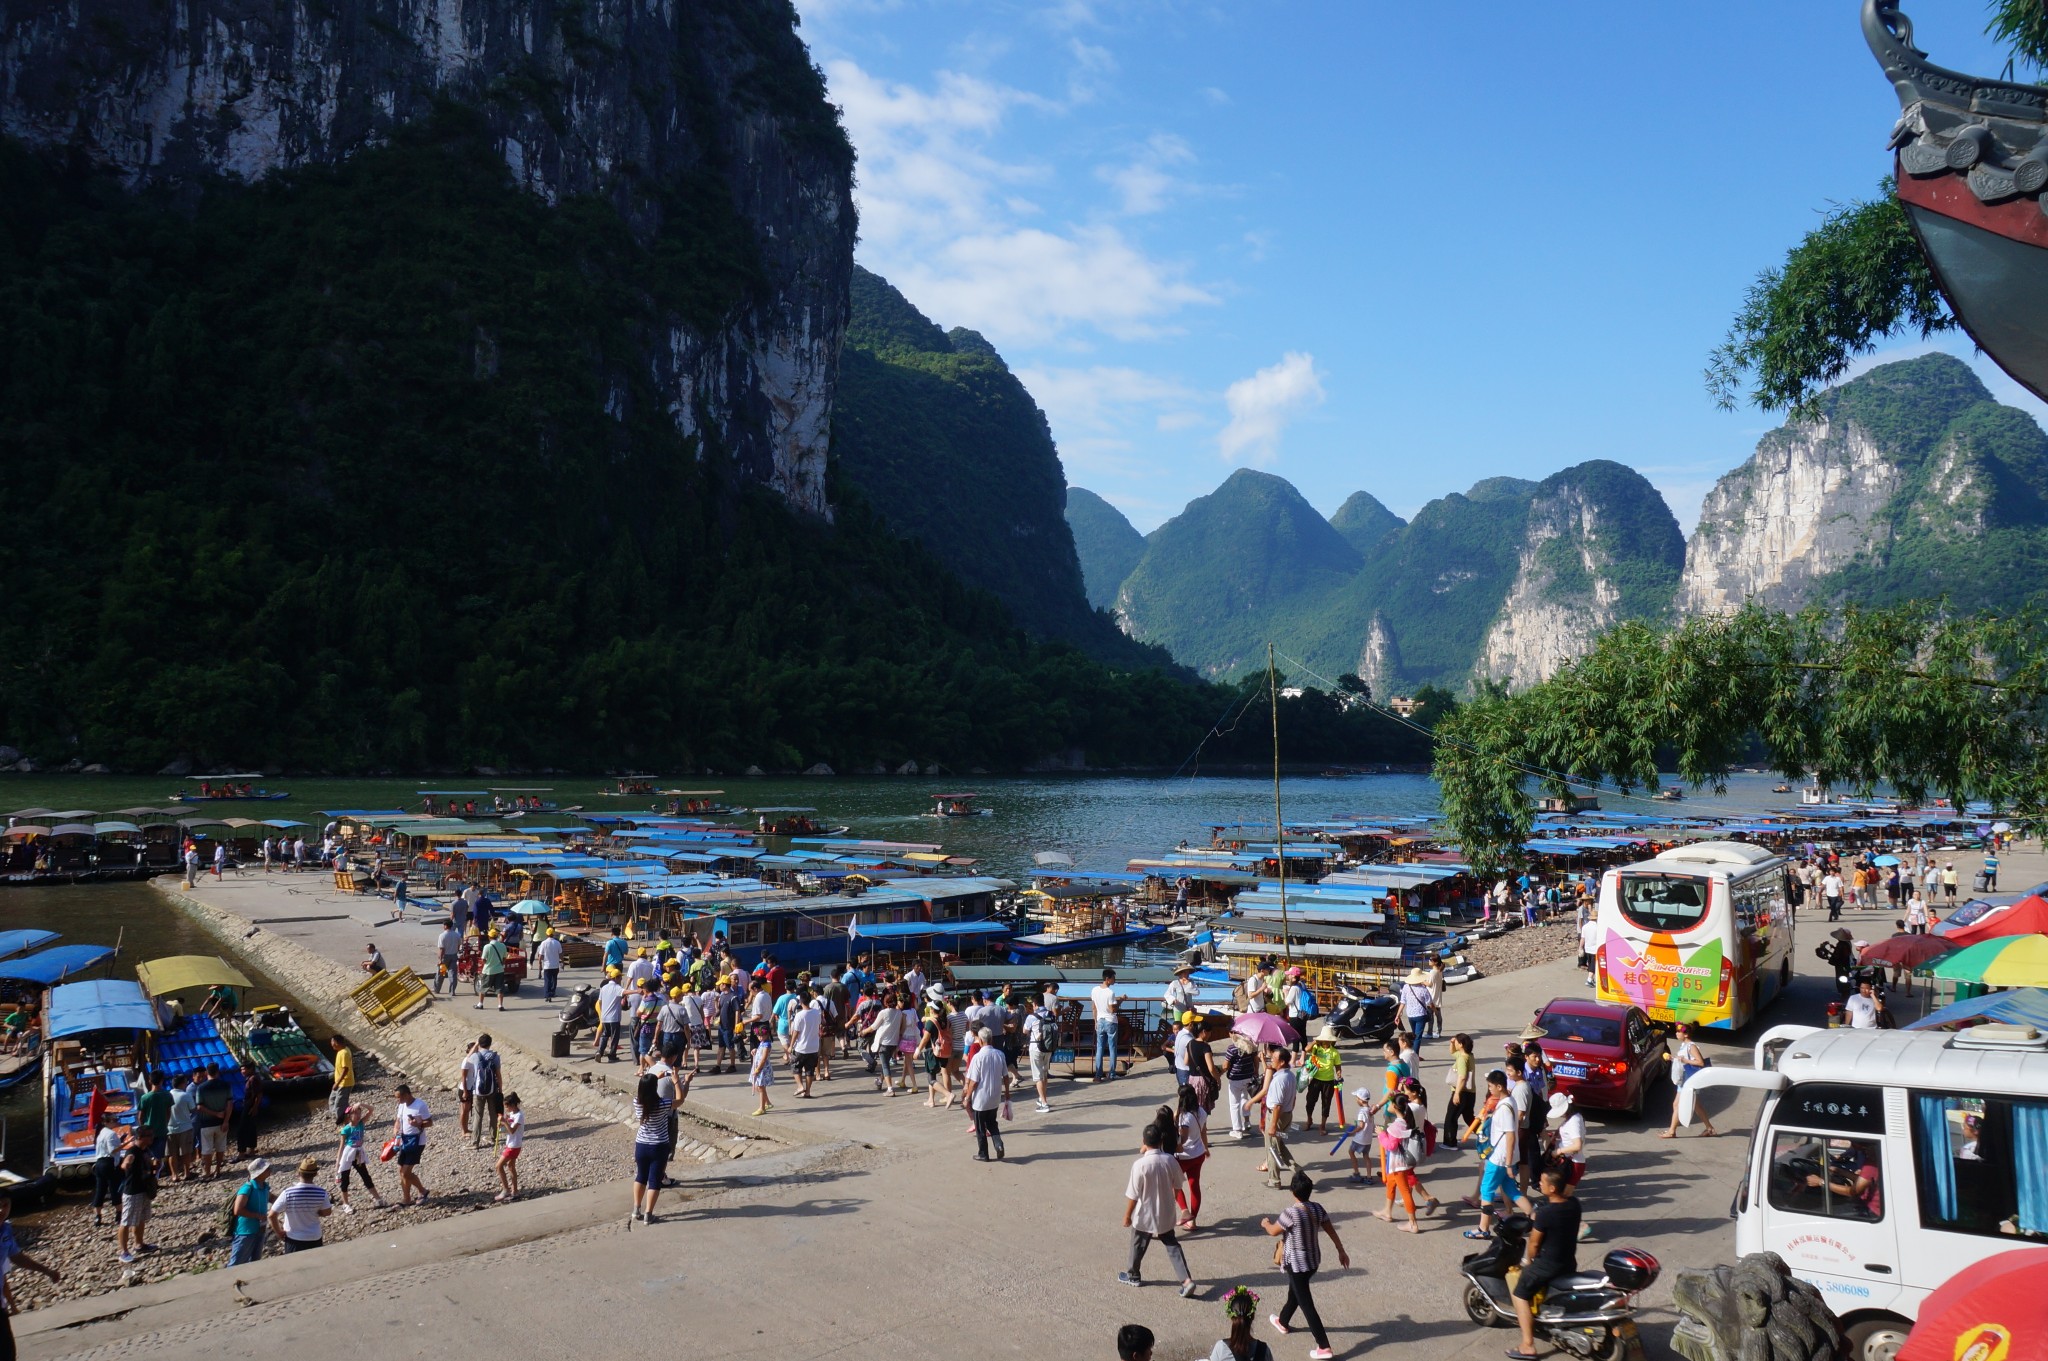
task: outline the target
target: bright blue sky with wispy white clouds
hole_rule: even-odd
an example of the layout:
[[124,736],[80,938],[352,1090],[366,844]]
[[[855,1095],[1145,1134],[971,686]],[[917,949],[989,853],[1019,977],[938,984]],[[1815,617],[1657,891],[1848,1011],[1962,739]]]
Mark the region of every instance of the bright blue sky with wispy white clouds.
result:
[[[1858,0],[799,8],[860,262],[989,336],[1067,481],[1143,530],[1235,467],[1411,514],[1583,458],[1690,530],[1778,424],[1718,411],[1706,354],[1876,188],[1898,113]],[[1935,61],[2001,68],[1982,0],[1905,8]]]

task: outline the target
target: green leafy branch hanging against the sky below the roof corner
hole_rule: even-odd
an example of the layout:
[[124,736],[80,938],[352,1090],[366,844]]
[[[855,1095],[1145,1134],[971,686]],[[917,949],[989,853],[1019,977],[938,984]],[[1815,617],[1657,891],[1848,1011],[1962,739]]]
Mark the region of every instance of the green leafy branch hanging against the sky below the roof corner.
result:
[[1821,389],[1884,336],[1956,325],[1894,190],[1886,178],[1878,199],[1837,205],[1780,268],[1757,274],[1708,356],[1706,389],[1720,407],[1812,415]]

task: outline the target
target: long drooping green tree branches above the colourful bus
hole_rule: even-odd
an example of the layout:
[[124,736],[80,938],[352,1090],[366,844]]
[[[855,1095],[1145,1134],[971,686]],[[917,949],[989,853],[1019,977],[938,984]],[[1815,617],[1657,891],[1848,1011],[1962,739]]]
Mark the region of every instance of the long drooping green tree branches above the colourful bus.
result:
[[1534,788],[1567,776],[1655,788],[1659,755],[1714,790],[1761,741],[1788,778],[1909,800],[2048,810],[2048,620],[1749,606],[1677,628],[1622,624],[1540,686],[1493,690],[1436,729],[1452,835],[1483,872],[1511,864]]

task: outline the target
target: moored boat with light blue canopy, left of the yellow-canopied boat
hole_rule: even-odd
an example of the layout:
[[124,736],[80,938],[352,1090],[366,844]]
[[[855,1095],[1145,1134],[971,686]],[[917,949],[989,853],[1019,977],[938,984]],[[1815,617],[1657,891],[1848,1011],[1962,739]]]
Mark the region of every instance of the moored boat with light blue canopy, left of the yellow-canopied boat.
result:
[[45,1169],[84,1177],[92,1171],[92,1093],[104,1095],[109,1122],[133,1126],[133,1081],[154,1062],[162,1023],[141,984],[119,978],[53,986],[43,1017]]

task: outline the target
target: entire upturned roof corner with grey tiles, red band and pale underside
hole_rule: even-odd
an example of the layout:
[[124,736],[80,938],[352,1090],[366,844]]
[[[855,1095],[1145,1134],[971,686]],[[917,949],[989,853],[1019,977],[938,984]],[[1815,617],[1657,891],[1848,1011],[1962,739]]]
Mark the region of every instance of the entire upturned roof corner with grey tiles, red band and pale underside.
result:
[[2048,100],[2040,86],[1927,61],[1898,0],[1864,0],[1864,41],[1898,94],[1890,145],[1935,282],[1970,340],[2048,397]]

